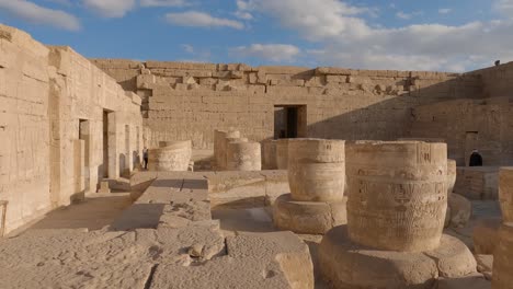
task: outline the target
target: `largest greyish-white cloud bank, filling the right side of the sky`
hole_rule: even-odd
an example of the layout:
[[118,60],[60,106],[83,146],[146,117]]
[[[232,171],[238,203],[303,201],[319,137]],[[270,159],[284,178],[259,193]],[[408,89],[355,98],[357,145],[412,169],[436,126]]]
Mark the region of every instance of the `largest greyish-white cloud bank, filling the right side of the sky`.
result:
[[[505,2],[498,0],[508,8]],[[495,59],[513,60],[513,19],[464,25],[371,26],[365,8],[342,1],[250,0],[248,11],[265,13],[319,48],[320,65],[362,69],[468,70]],[[412,12],[418,13],[418,12]],[[422,12],[419,12],[422,13]]]

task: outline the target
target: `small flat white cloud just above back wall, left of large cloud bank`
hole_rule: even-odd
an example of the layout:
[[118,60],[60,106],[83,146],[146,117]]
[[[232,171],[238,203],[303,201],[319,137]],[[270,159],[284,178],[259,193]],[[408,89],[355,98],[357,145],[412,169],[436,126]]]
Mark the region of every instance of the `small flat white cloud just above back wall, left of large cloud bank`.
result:
[[244,58],[260,58],[272,62],[292,62],[301,51],[294,45],[285,44],[253,44],[231,50]]

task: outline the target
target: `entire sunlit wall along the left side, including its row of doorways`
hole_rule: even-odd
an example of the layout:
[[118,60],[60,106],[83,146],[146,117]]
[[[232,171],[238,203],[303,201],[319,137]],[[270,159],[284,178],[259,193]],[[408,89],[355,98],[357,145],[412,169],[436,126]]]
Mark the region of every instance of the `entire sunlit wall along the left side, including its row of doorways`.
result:
[[9,201],[9,232],[132,170],[142,119],[140,97],[71,48],[3,25],[0,45],[0,200]]

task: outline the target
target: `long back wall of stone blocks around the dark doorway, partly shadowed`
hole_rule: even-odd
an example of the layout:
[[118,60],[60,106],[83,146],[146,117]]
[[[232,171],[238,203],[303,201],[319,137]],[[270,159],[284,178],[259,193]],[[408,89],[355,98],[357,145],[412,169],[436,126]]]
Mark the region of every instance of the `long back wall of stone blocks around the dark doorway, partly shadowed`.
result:
[[306,105],[303,137],[391,140],[407,135],[412,107],[481,92],[478,77],[441,72],[92,61],[137,88],[149,147],[192,139],[210,149],[213,131],[230,127],[272,138],[277,105]]

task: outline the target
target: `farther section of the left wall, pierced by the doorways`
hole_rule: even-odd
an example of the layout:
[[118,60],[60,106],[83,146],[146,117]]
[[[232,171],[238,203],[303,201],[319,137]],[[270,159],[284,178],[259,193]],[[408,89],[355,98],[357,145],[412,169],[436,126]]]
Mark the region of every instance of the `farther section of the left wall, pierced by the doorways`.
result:
[[[50,100],[55,103],[54,113],[59,120],[53,124],[52,131],[59,131],[55,154],[60,162],[53,164],[60,170],[54,175],[60,180],[58,205],[69,204],[77,189],[78,176],[72,170],[77,153],[73,141],[86,138],[89,153],[84,155],[86,171],[89,178],[83,189],[96,192],[99,180],[103,176],[116,178],[126,171],[132,171],[137,160],[141,159],[142,123],[140,117],[140,97],[125,92],[117,83],[88,59],[70,47],[50,47],[49,65],[56,69],[52,77]],[[103,126],[104,112],[107,112],[109,162],[104,164]],[[83,127],[79,127],[80,124]],[[139,130],[139,134],[137,134]],[[81,137],[79,131],[84,131]],[[137,139],[137,135],[139,135]],[[53,158],[54,159],[54,158]],[[57,159],[58,160],[58,159]],[[57,167],[58,166],[58,167]],[[89,189],[88,189],[89,188]]]

